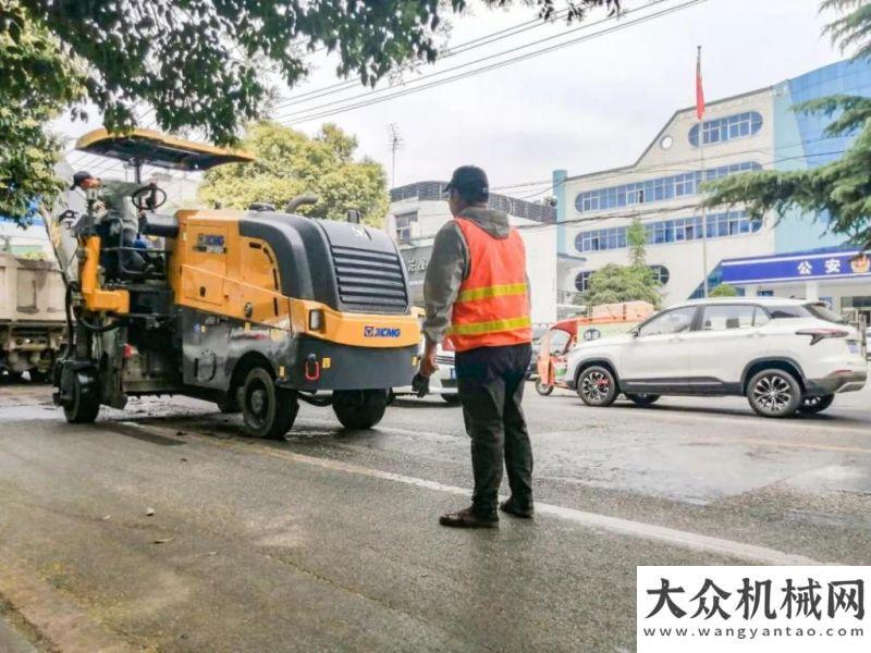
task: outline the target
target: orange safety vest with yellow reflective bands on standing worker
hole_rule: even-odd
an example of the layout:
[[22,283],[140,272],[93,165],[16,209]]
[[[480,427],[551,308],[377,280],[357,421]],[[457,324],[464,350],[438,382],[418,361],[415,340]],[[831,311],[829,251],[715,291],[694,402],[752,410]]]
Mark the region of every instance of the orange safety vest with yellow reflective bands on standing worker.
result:
[[516,229],[494,238],[471,220],[456,220],[469,249],[470,272],[454,303],[447,341],[457,352],[532,342],[526,248]]

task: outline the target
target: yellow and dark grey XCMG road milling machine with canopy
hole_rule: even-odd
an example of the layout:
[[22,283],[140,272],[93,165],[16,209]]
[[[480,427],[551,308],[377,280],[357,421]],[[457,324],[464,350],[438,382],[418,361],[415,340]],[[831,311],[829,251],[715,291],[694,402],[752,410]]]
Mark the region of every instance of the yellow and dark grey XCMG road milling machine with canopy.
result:
[[53,372],[68,421],[179,394],[241,411],[258,438],[282,438],[299,402],[367,429],[412,382],[420,330],[387,234],[293,214],[294,202],[163,214],[164,189],[140,182],[143,165],[204,171],[253,160],[244,152],[147,130],[97,130],[77,149],[124,161],[135,182],[109,198],[110,183],[77,173],[82,210],[52,224],[68,271],[72,337]]

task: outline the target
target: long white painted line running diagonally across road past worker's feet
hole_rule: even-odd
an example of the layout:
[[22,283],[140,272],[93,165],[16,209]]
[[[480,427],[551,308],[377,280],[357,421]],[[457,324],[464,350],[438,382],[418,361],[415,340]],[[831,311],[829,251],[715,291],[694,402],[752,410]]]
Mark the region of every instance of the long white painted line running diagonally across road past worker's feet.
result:
[[[175,436],[175,429],[162,429],[159,427],[152,427],[150,424],[148,426],[137,424],[135,422],[123,422],[123,423],[143,429],[146,432],[151,431],[163,436],[169,436],[173,438],[174,440],[183,441],[182,439]],[[185,433],[194,435],[198,440],[211,444],[213,446],[232,448],[238,452],[248,452],[248,453],[256,452],[258,454],[262,454],[266,456],[281,458],[284,460],[291,460],[293,463],[300,463],[304,465],[321,467],[323,469],[329,469],[332,471],[344,471],[346,473],[365,476],[385,481],[394,481],[397,483],[404,483],[406,485],[422,488],[425,490],[433,490],[436,492],[444,492],[447,494],[456,494],[461,496],[469,496],[470,494],[470,491],[468,489],[459,488],[457,485],[445,485],[444,483],[439,483],[437,481],[429,481],[427,479],[419,479],[416,477],[404,476],[391,471],[370,469],[368,467],[361,467],[359,465],[352,465],[339,460],[331,460],[329,458],[317,458],[314,456],[306,456],[304,454],[296,454],[293,452],[286,452],[282,449],[263,446],[250,441],[243,442],[234,439],[217,440],[213,436],[197,433],[196,431],[185,431]],[[785,553],[783,551],[777,551],[775,549],[766,549],[764,546],[755,546],[752,544],[745,544],[743,542],[733,542],[731,540],[711,538],[708,535],[679,531],[661,526],[645,523],[641,521],[631,521],[629,519],[621,519],[618,517],[599,515],[597,513],[585,513],[582,510],[576,510],[574,508],[566,508],[563,506],[556,506],[552,504],[536,503],[536,513],[538,515],[550,515],[553,517],[559,517],[560,519],[565,519],[574,523],[580,525],[582,527],[591,528],[593,530],[599,529],[633,538],[655,540],[659,542],[664,542],[666,544],[675,544],[678,546],[683,546],[684,549],[689,549],[691,551],[697,551],[702,553],[714,553],[752,563],[759,563],[763,565],[817,566],[824,564],[813,560],[812,558],[808,558],[801,555]],[[834,563],[826,563],[826,564],[834,564]]]

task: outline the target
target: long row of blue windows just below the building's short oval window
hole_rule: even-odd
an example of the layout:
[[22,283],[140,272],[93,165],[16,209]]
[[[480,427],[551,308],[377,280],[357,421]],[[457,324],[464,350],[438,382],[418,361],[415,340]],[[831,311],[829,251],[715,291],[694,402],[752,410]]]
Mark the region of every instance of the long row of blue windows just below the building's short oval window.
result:
[[[732,165],[721,165],[704,171],[704,180],[719,180],[731,174],[762,170],[759,163],[747,161]],[[667,177],[648,180],[636,184],[623,184],[610,188],[599,188],[580,193],[575,198],[575,208],[580,213],[608,211],[641,204],[667,201],[675,197],[690,197],[699,192],[701,172],[687,172]]]

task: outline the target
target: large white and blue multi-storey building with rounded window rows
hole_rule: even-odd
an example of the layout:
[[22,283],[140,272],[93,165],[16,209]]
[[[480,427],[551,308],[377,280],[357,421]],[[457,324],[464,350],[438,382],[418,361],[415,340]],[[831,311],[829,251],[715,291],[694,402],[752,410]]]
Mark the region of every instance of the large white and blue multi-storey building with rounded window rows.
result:
[[581,292],[596,270],[626,264],[626,229],[638,219],[665,305],[702,296],[708,276],[711,288],[728,282],[748,294],[825,298],[837,310],[871,308],[871,278],[861,274],[827,280],[823,271],[806,284],[798,270],[794,275],[781,271],[773,280],[741,271],[766,257],[801,262],[823,248],[827,259],[846,256],[855,248],[826,233],[826,217],[793,212],[780,221],[773,215],[756,221],[740,206],[707,211],[698,206],[702,181],[750,170],[801,170],[837,159],[849,139],[826,137],[831,119],[793,107],[827,95],[869,95],[870,87],[867,62],[836,63],[711,102],[703,123],[695,107],[677,111],[631,165],[578,176],[554,171],[559,289],[563,295]]

